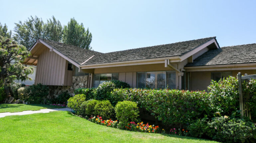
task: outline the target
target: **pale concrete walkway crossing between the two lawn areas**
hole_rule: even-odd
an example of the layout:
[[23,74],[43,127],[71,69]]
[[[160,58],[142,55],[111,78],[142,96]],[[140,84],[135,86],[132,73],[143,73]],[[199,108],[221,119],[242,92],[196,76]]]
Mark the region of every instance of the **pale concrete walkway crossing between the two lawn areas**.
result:
[[5,116],[12,116],[12,115],[28,115],[28,114],[35,114],[35,113],[49,113],[49,112],[53,112],[53,111],[72,111],[72,109],[70,108],[60,108],[60,109],[40,109],[37,111],[22,111],[22,112],[14,112],[14,113],[10,113],[10,112],[4,112],[4,113],[0,113],[0,118],[5,117]]

